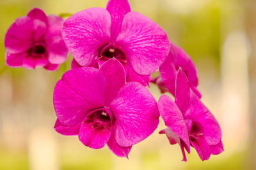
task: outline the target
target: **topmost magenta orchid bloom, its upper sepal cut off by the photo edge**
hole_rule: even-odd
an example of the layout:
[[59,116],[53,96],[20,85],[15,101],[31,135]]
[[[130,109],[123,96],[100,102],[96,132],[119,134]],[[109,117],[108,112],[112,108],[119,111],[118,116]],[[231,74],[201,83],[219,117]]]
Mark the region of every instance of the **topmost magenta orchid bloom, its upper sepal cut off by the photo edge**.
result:
[[127,0],[109,0],[104,8],[89,8],[64,22],[64,41],[81,66],[116,58],[125,68],[126,81],[147,86],[150,73],[170,51],[166,33],[155,22],[131,12]]

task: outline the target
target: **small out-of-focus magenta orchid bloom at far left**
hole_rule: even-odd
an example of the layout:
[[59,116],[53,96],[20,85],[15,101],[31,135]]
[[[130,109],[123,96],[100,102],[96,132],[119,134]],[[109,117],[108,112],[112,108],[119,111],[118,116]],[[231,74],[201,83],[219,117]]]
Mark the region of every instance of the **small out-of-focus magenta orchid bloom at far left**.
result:
[[61,36],[63,19],[34,8],[19,17],[5,36],[6,65],[56,70],[67,59],[68,49]]

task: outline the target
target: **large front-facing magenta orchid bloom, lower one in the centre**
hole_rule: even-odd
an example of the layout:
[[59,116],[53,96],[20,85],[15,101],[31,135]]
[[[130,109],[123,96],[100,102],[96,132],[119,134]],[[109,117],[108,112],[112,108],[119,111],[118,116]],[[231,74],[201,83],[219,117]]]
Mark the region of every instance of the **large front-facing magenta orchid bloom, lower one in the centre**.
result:
[[159,123],[154,97],[138,82],[125,84],[124,68],[116,59],[100,69],[64,73],[54,88],[53,102],[57,132],[78,135],[94,149],[108,144],[119,157],[127,157],[132,145],[152,134]]

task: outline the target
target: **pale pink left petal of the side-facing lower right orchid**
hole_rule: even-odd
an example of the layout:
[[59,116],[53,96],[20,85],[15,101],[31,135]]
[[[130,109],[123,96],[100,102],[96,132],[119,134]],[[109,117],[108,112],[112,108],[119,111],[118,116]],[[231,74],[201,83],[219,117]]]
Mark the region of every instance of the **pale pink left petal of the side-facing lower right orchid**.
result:
[[179,135],[189,147],[190,143],[186,123],[184,122],[182,112],[180,112],[179,107],[173,102],[172,98],[162,95],[158,100],[158,109],[166,127]]

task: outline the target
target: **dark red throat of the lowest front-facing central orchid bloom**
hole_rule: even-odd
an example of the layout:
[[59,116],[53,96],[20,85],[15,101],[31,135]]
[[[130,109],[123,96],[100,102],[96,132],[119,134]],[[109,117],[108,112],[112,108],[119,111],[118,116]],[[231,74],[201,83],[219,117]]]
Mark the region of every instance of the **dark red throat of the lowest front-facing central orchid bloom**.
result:
[[86,117],[85,123],[90,123],[96,130],[109,129],[113,123],[112,113],[110,110],[98,109],[91,112]]

